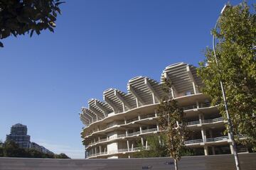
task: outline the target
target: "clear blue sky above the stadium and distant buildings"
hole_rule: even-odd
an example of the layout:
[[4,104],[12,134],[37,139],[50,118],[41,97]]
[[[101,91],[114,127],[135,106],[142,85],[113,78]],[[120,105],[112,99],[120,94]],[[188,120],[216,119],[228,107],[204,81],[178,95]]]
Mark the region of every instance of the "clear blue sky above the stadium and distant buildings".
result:
[[0,140],[23,123],[33,142],[83,158],[80,108],[110,87],[127,91],[132,77],[197,65],[225,2],[67,0],[55,33],[2,40]]

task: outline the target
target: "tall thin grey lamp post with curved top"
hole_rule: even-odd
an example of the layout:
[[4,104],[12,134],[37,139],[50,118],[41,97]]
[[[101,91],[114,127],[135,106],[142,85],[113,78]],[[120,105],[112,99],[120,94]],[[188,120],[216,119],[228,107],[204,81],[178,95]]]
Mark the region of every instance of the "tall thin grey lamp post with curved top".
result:
[[[221,10],[220,16],[218,17],[218,20],[215,24],[214,30],[217,29],[218,21],[220,20],[220,17],[222,15],[222,13],[225,11],[225,8],[227,8],[227,7],[228,7],[228,5],[225,5],[223,7],[223,9]],[[218,59],[217,59],[216,52],[215,52],[215,35],[214,34],[213,34],[213,54],[214,54],[214,57],[215,57],[215,62],[217,64],[217,68],[218,68]],[[220,74],[219,69],[218,69],[218,72]],[[238,159],[238,151],[237,151],[237,146],[236,146],[235,140],[234,140],[233,125],[232,125],[230,115],[229,115],[229,112],[228,112],[228,102],[227,102],[227,98],[225,96],[225,89],[224,89],[223,81],[222,81],[221,78],[220,78],[220,87],[221,87],[221,91],[222,91],[222,94],[223,94],[223,101],[224,101],[224,105],[225,105],[225,113],[226,113],[227,120],[228,120],[228,132],[230,133],[229,136],[230,136],[230,140],[231,140],[231,144],[232,144],[233,154],[234,154],[234,157],[235,157],[235,167],[236,167],[237,170],[240,170],[240,163],[239,163],[239,159]]]

